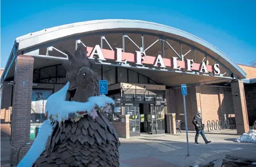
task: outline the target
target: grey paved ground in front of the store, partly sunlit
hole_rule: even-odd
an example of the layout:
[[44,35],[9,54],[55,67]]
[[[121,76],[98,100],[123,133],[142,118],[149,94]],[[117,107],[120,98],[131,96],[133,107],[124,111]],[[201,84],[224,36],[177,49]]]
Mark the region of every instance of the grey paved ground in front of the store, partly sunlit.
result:
[[174,135],[142,135],[130,139],[120,139],[121,167],[165,167],[207,164],[226,154],[247,154],[256,158],[255,143],[234,142],[235,130],[206,132],[212,143],[205,145],[199,137],[200,145],[195,145],[195,133],[189,133],[189,155],[185,133]]

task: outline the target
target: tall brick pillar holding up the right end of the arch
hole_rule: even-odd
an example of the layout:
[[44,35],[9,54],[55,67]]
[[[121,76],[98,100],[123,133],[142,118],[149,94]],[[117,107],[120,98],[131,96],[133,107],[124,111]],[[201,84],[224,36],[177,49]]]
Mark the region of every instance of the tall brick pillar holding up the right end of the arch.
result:
[[241,80],[231,83],[232,99],[235,111],[236,131],[238,135],[249,131],[245,89]]

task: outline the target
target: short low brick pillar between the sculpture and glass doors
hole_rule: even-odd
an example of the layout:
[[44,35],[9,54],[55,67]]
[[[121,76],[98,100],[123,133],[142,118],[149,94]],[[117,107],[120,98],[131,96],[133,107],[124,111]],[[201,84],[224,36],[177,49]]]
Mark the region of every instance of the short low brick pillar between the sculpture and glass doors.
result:
[[120,121],[111,122],[120,138],[130,138],[130,115],[119,115]]

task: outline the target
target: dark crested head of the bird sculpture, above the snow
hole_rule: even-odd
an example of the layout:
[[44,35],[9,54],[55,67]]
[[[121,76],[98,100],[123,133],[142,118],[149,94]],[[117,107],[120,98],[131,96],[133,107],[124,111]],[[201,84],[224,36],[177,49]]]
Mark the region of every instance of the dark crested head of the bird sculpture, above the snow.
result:
[[86,57],[86,48],[79,46],[74,54],[65,51],[68,61],[63,63],[69,81],[66,100],[87,102],[90,96],[99,95],[98,79],[92,71],[92,63]]

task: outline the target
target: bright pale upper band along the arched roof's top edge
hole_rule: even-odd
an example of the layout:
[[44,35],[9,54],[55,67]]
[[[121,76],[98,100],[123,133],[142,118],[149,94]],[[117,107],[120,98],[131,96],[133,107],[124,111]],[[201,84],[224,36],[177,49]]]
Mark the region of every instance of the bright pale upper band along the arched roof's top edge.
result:
[[[157,24],[155,22],[149,22],[149,21],[107,19],[107,20],[92,20],[92,21],[76,22],[76,23],[72,23],[72,24],[65,24],[65,25],[61,25],[61,26],[55,26],[52,28],[48,28],[48,29],[43,29],[43,30],[40,30],[40,31],[34,32],[34,33],[29,33],[29,34],[26,34],[25,36],[20,36],[20,37],[16,38],[15,41],[22,42],[24,40],[28,40],[29,38],[41,36],[41,35],[44,35],[47,33],[54,33],[58,30],[64,30],[64,29],[68,29],[68,28],[79,28],[79,26],[92,25],[92,24],[103,24],[103,23],[113,24],[113,27],[115,27],[115,28],[120,28],[120,27],[125,28],[125,26],[129,25],[129,26],[127,26],[127,28],[131,28],[132,26],[134,26],[134,28],[141,28],[141,29],[145,29],[145,30],[146,29],[157,30],[159,32],[175,34],[177,36],[187,38],[188,40],[195,41],[199,45],[202,45],[205,48],[210,49],[212,52],[215,52],[217,55],[221,56],[224,60],[226,60],[230,65],[232,65],[232,67],[235,68],[235,71],[238,72],[236,74],[239,75],[238,77],[240,79],[246,77],[246,72],[243,71],[243,69],[241,67],[239,67],[238,64],[236,64],[232,59],[230,59],[230,57],[228,57],[226,54],[224,54],[222,51],[220,51],[214,45],[208,43],[207,41],[204,41],[203,39],[201,39],[193,34],[184,32],[183,30],[172,28],[170,26],[166,26],[163,24]],[[84,32],[86,32],[86,30],[84,30]],[[76,34],[76,33],[78,33],[78,32],[73,32],[73,34]],[[69,35],[72,35],[72,34],[69,34]],[[66,36],[68,36],[68,35],[66,34]],[[63,34],[63,36],[56,37],[56,39],[59,39],[59,38],[65,38],[65,34]],[[52,40],[55,40],[55,39],[52,38]],[[40,42],[38,42],[38,44],[40,44]],[[21,47],[21,49],[22,49],[22,47]]]

